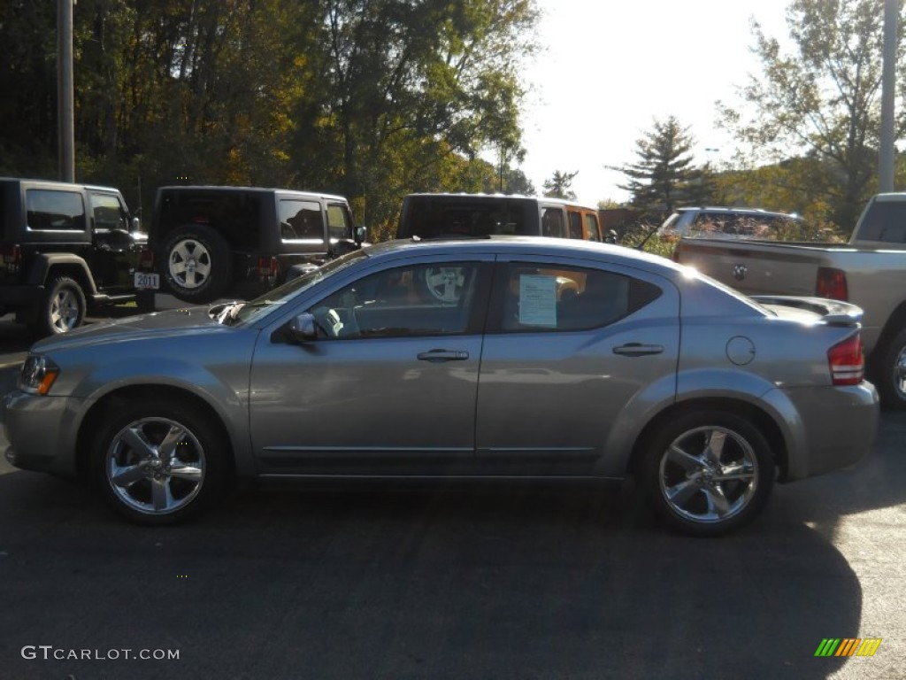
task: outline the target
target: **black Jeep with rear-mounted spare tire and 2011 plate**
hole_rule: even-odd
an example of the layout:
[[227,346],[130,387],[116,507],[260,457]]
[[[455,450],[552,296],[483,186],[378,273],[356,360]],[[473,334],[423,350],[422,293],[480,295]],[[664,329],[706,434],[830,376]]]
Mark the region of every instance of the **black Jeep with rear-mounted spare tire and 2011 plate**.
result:
[[[142,259],[180,300],[249,298],[361,247],[342,196],[258,187],[158,189]],[[149,262],[150,260],[150,262]]]

